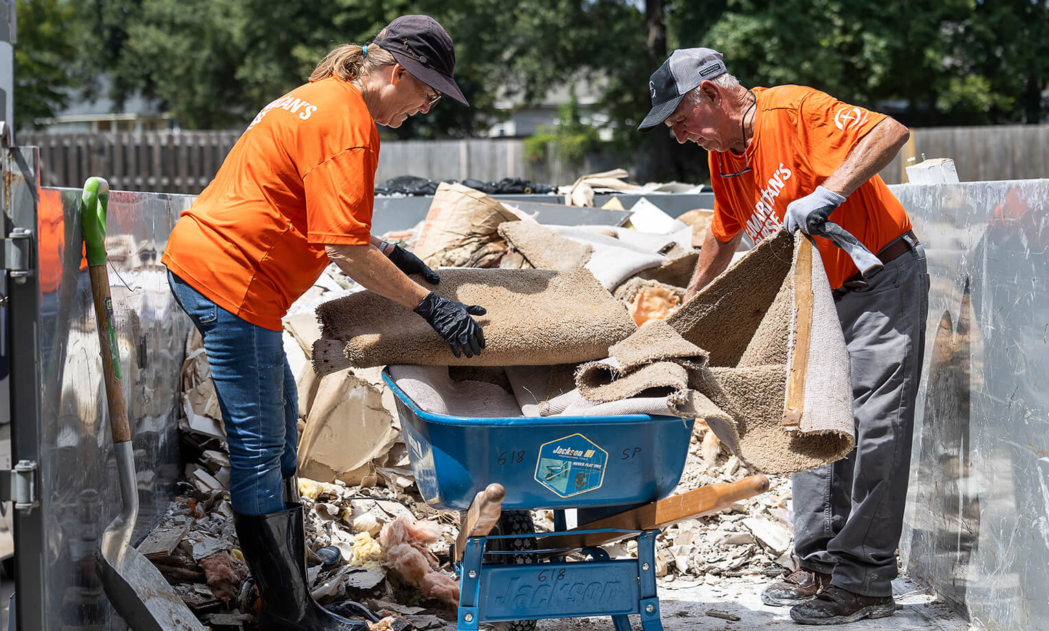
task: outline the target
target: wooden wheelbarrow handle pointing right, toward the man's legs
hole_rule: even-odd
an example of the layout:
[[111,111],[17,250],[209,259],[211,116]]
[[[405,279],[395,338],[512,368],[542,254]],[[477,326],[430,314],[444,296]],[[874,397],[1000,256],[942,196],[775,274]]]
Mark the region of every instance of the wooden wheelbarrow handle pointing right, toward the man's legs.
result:
[[[670,496],[644,506],[625,510],[588,524],[580,524],[576,530],[598,528],[621,528],[626,530],[648,530],[661,528],[686,519],[695,519],[727,508],[732,502],[765,493],[769,489],[769,479],[763,475],[750,476],[734,482],[716,482],[699,488]],[[602,545],[624,537],[623,532],[592,532],[579,535],[573,530],[551,534],[538,539],[539,548],[582,548]]]

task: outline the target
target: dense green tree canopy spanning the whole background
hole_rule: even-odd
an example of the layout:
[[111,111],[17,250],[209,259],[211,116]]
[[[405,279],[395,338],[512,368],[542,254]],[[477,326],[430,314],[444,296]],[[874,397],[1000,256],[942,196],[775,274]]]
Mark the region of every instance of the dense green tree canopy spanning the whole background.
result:
[[[668,49],[691,46],[721,50],[745,85],[812,85],[912,126],[1040,123],[1049,113],[1046,3],[18,0],[16,104],[23,124],[46,117],[65,105],[65,88],[90,92],[90,78],[106,72],[117,103],[141,91],[185,128],[239,127],[335,45],[425,13],[454,39],[456,80],[473,107],[445,100],[399,137],[476,135],[499,115],[497,96],[535,102],[586,77],[604,86],[597,109],[620,145],[636,147],[648,74]],[[672,153],[664,136],[640,142],[654,156]]]

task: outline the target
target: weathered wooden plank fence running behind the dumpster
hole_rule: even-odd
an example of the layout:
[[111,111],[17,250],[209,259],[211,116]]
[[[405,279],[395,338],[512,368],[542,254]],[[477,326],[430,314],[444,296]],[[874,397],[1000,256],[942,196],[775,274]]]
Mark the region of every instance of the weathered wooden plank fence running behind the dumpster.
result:
[[[77,188],[87,177],[101,175],[115,190],[197,194],[239,136],[239,131],[21,132],[16,139],[19,145],[40,147],[45,187]],[[922,153],[954,158],[963,181],[1047,177],[1049,125],[915,129],[900,154],[881,171],[882,178],[889,183],[906,181],[906,159],[921,160]],[[518,138],[386,140],[376,181],[415,175],[434,180],[522,177],[563,184],[584,173],[619,166],[630,169],[606,156],[563,162],[550,148],[545,160],[532,162]]]

